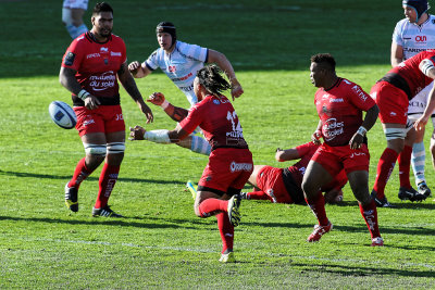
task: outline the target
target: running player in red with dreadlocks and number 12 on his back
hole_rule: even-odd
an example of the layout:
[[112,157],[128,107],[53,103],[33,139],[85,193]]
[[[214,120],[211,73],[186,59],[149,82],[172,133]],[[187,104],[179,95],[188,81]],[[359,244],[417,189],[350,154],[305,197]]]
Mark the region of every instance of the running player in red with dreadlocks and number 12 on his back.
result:
[[199,180],[195,214],[215,215],[223,242],[221,262],[234,262],[234,227],[240,222],[239,199],[236,199],[252,172],[252,154],[245,141],[241,126],[229,100],[222,91],[229,89],[215,65],[198,71],[194,90],[198,103],[189,111],[167,103],[164,96],[150,96],[154,104],[166,103],[165,112],[179,122],[173,130],[147,131],[140,126],[130,128],[130,140],[174,143],[183,140],[198,126],[211,146],[209,163]]

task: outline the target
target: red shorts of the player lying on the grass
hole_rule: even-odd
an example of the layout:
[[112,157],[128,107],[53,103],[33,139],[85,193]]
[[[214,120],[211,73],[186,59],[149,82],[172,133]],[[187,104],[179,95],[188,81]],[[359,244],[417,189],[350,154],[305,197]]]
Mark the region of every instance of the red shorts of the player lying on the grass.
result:
[[262,167],[257,174],[257,187],[277,203],[293,203],[283,181],[283,168]]

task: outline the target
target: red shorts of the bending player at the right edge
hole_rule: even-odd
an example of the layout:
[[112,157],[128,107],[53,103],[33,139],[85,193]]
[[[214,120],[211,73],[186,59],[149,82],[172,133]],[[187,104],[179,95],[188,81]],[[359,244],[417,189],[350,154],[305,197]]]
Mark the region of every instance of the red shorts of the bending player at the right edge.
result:
[[373,86],[370,96],[380,108],[380,119],[383,124],[407,124],[409,101],[405,91],[387,81],[380,81]]

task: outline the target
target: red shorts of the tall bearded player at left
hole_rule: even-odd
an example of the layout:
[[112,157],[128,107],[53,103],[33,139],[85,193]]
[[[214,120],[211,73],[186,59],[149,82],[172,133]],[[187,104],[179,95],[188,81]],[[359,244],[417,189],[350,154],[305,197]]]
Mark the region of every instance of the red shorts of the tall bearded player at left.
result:
[[75,128],[82,137],[89,133],[125,131],[121,105],[99,105],[89,110],[86,106],[74,106],[77,116]]

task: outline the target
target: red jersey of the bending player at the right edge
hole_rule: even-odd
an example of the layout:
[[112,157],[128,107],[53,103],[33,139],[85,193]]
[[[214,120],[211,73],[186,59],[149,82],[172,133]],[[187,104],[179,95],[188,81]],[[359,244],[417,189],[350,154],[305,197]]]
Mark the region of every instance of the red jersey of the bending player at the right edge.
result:
[[[397,86],[402,89],[407,94],[408,99],[412,99],[418,94],[422,89],[427,87],[434,79],[427,77],[420,71],[420,63],[423,60],[430,60],[435,65],[435,50],[422,51],[414,56],[401,62],[399,65],[393,67],[387,75],[381,80],[386,80],[395,85],[394,80],[390,81],[389,78],[394,77],[390,74],[397,74],[401,76],[409,88],[403,88],[402,86]],[[389,78],[388,78],[389,77]],[[400,85],[400,83],[398,84]],[[408,90],[408,91],[407,91]]]

